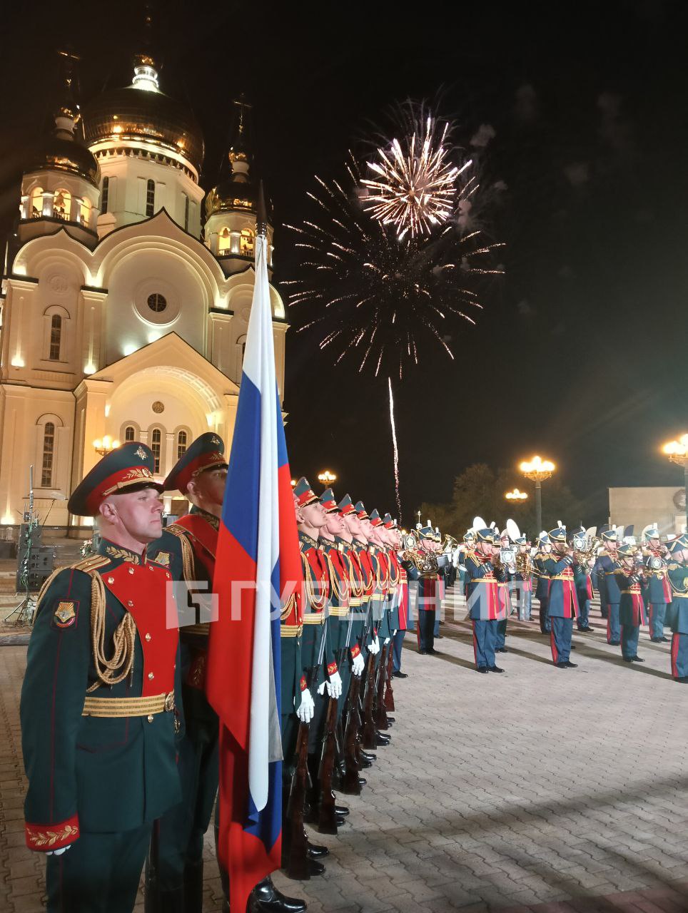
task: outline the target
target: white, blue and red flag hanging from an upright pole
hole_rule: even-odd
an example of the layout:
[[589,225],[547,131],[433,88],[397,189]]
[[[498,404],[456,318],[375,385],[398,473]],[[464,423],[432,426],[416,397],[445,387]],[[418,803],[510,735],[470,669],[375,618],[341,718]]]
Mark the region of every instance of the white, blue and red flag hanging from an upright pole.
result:
[[220,725],[218,854],[238,913],[252,888],[280,867],[280,609],[301,576],[275,377],[267,240],[259,234],[206,676]]

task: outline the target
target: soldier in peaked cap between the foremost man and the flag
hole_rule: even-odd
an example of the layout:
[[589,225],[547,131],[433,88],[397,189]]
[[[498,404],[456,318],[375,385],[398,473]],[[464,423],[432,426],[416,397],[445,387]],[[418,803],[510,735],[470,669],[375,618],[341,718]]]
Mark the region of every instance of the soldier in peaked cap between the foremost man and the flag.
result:
[[[191,511],[148,547],[153,560],[169,564],[175,580],[191,584],[196,606],[204,603],[204,593],[211,593],[213,588],[217,532],[227,483],[224,454],[224,443],[212,432],[188,446],[165,479],[164,490],[185,495],[192,504]],[[185,738],[179,745],[183,799],[155,826],[146,866],[146,913],[202,913],[203,839],[217,796],[219,726],[205,689],[210,603],[203,616],[199,608],[193,618],[181,611],[180,616],[186,724]],[[220,878],[228,909],[229,880],[222,866]],[[250,899],[256,913],[298,913],[305,909],[301,900],[280,894],[270,877],[259,882]]]

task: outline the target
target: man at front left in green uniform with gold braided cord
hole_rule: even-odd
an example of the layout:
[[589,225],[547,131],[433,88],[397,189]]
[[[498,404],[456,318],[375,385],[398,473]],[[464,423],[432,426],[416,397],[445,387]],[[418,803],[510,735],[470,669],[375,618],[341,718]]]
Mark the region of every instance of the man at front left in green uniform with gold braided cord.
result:
[[104,456],[69,498],[98,518],[98,551],[38,597],[20,707],[26,845],[48,856],[55,913],[130,913],[153,822],[181,798],[176,606],[145,552],[161,488],[143,444]]

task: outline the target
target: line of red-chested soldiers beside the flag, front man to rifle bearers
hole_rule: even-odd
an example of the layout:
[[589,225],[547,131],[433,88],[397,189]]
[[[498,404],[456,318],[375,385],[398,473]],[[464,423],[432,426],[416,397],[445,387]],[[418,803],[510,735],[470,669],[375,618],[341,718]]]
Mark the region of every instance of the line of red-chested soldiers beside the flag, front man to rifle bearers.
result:
[[[39,594],[21,700],[26,844],[47,857],[49,911],[128,913],[143,866],[146,913],[202,910],[218,720],[205,693],[210,616],[198,604],[212,591],[227,469],[208,433],[159,484],[151,450],[132,442],[69,499],[70,512],[98,520],[100,540]],[[166,529],[163,490],[192,505]],[[336,834],[348,809],[334,789],[359,794],[361,771],[390,741],[392,678],[406,677],[407,567],[413,577],[418,559],[389,514],[336,503],[332,489],[318,497],[301,479],[294,508],[304,587],[280,624],[282,864],[306,879],[329,851],[304,824]],[[268,877],[249,909],[305,904]]]

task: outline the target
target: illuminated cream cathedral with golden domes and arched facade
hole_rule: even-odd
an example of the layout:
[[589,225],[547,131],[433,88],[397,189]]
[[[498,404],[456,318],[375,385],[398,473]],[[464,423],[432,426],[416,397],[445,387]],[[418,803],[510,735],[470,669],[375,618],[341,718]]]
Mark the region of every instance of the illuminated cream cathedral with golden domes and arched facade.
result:
[[[26,510],[30,466],[40,521],[78,527],[69,492],[112,441],[150,446],[159,478],[204,431],[228,451],[253,295],[258,189],[244,106],[224,176],[205,194],[201,131],[164,94],[151,56],[82,113],[74,61],[62,64],[55,130],[27,163],[5,257],[5,525]],[[271,267],[270,225],[268,242]],[[282,396],[287,322],[272,287],[270,299]]]

